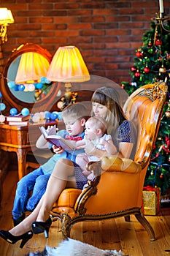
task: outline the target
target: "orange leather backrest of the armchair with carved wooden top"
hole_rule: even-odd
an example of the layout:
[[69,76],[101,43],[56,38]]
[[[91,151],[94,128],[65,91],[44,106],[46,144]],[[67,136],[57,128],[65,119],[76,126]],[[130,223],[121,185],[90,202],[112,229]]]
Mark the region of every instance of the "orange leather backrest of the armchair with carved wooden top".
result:
[[134,161],[147,165],[166,101],[165,83],[147,84],[134,91],[127,99],[123,110],[128,119],[134,122],[138,131]]

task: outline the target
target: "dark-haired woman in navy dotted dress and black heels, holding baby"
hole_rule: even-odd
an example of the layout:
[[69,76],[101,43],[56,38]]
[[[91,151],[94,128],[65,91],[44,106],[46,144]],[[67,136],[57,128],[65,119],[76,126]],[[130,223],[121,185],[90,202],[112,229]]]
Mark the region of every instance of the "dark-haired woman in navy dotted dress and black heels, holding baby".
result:
[[[131,156],[135,140],[133,125],[125,118],[117,91],[112,87],[101,87],[94,92],[91,101],[92,116],[101,116],[107,121],[107,133],[112,136],[117,148],[116,154],[119,157],[133,159]],[[59,149],[56,148],[56,151]],[[107,151],[101,151],[94,147],[92,150],[90,143],[85,146],[85,153],[96,157],[109,155]],[[23,246],[33,236],[33,233],[45,233],[45,237],[48,237],[51,225],[49,216],[53,203],[58,200],[63,189],[83,189],[85,184],[87,184],[87,176],[82,174],[82,170],[75,162],[69,159],[58,160],[48,181],[46,192],[34,211],[18,226],[9,231],[1,230],[1,238],[10,244],[23,240],[21,243]]]

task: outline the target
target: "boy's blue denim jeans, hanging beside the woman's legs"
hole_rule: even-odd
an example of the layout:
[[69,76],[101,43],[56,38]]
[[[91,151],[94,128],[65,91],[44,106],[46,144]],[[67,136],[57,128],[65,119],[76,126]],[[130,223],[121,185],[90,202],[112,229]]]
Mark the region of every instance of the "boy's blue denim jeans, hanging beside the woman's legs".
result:
[[18,219],[25,211],[34,210],[45,193],[49,178],[50,174],[44,174],[41,166],[21,178],[12,209],[13,219]]

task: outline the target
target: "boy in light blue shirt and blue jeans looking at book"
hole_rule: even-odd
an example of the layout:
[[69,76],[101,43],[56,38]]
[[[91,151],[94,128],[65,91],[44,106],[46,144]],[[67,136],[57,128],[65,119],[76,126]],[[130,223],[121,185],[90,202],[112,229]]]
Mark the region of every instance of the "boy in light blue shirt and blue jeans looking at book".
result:
[[[87,118],[85,106],[80,103],[69,105],[61,114],[64,117],[66,129],[58,131],[57,134],[69,140],[77,140],[77,137],[75,137],[77,135],[78,140],[84,138],[85,118]],[[47,129],[50,129],[50,127]],[[36,142],[36,146],[38,148],[47,148],[49,147],[49,143],[41,135]],[[64,151],[63,148],[55,148],[53,146],[53,151],[55,154],[44,165],[28,173],[28,175],[21,178],[18,182],[12,209],[14,225],[18,225],[25,218],[25,211],[33,211],[37,203],[39,203],[39,200],[45,193],[47,181],[58,159],[66,158],[75,162],[77,154],[82,153],[83,149]],[[32,193],[31,197],[30,193]]]

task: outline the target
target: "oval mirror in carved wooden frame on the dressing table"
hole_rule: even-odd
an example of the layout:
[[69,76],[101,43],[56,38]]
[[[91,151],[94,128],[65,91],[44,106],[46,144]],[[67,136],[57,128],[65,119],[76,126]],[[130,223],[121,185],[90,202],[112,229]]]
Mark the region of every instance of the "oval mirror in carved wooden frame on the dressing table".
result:
[[40,108],[44,102],[53,100],[53,90],[57,93],[58,86],[46,78],[51,59],[47,50],[34,43],[12,50],[4,68],[4,83],[1,84],[2,94],[12,107],[31,110],[35,102]]

